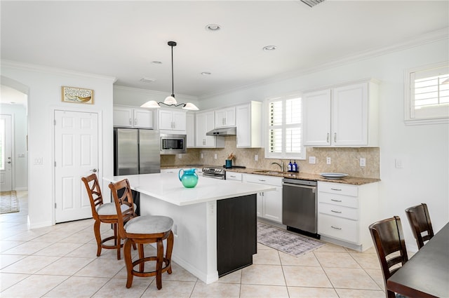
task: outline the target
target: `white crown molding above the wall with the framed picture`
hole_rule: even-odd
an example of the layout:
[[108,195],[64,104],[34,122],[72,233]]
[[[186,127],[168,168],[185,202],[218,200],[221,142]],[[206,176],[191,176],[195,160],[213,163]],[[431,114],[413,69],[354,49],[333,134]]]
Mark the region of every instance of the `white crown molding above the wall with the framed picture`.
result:
[[111,83],[115,83],[117,81],[114,76],[104,76],[101,74],[90,74],[87,72],[76,72],[69,69],[61,69],[56,67],[46,67],[43,65],[32,65],[24,62],[17,62],[13,60],[1,60],[1,67],[10,67],[13,69],[26,70],[29,72],[41,72],[44,74],[60,74],[65,76],[82,76],[84,78],[92,78],[92,79],[100,79],[105,81],[110,81]]

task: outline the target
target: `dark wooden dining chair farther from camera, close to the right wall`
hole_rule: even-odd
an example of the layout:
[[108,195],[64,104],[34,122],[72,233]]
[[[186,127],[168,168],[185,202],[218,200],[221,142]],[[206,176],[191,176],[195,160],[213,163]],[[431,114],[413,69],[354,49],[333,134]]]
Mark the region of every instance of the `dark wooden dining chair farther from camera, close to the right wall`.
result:
[[429,241],[434,237],[434,229],[432,229],[427,204],[421,203],[420,205],[407,208],[406,215],[410,228],[412,228],[413,236],[415,236],[418,249],[421,249],[424,246],[424,241]]

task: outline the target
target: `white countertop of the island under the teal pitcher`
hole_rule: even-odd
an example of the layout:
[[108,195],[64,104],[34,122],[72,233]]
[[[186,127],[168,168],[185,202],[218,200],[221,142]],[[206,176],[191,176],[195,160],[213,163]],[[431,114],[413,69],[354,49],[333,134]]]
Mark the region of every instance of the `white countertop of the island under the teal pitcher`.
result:
[[131,189],[178,206],[246,196],[248,194],[257,194],[260,191],[276,189],[276,187],[269,185],[218,180],[202,177],[201,175],[199,175],[196,187],[187,189],[182,186],[177,172],[112,176],[103,177],[103,180],[118,182],[125,178],[129,180]]

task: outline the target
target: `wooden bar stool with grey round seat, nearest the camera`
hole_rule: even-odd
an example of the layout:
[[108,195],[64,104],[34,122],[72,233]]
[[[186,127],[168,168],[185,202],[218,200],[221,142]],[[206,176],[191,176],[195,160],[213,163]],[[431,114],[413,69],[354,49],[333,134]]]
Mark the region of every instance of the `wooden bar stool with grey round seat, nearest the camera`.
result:
[[[133,276],[156,276],[156,287],[162,288],[162,273],[171,274],[171,254],[173,252],[173,219],[166,216],[146,215],[136,216],[133,208],[133,194],[127,179],[110,183],[112,197],[118,215],[119,236],[126,239],[123,246],[127,271],[126,287],[133,284]],[[123,194],[119,197],[119,192]],[[122,202],[130,202],[128,209],[121,208]],[[163,240],[166,240],[166,255],[163,255]],[[145,257],[143,245],[156,243],[157,255]],[[131,245],[138,244],[139,257],[134,262],[131,259]],[[156,270],[145,271],[145,262],[155,261]],[[135,266],[139,265],[136,270]]]

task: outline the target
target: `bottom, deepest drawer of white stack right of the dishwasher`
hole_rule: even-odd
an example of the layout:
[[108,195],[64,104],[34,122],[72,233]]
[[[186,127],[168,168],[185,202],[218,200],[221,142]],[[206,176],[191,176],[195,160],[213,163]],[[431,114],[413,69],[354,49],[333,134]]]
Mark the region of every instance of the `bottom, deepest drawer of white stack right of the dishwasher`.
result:
[[318,233],[358,243],[358,221],[319,213]]

